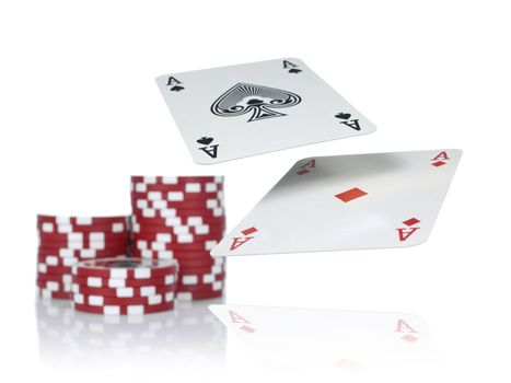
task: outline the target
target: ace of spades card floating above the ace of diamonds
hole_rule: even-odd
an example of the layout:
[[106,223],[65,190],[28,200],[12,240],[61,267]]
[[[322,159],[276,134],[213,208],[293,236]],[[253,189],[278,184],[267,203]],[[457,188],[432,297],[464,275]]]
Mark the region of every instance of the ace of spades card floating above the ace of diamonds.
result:
[[376,129],[295,58],[165,74],[156,83],[199,164]]

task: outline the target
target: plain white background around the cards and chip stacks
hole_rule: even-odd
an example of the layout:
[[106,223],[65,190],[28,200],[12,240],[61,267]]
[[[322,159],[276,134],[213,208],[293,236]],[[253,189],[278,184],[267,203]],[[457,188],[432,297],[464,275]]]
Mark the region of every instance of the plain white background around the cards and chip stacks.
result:
[[[2,375],[56,383],[181,374],[166,363],[77,374],[40,361],[34,314],[38,212],[128,213],[131,174],[224,174],[231,228],[300,158],[460,148],[464,156],[426,244],[230,259],[227,300],[416,314],[430,326],[445,374],[509,381],[507,5],[3,1]],[[194,164],[154,78],[284,56],[303,59],[379,130],[214,166]],[[231,367],[231,379],[246,375]]]

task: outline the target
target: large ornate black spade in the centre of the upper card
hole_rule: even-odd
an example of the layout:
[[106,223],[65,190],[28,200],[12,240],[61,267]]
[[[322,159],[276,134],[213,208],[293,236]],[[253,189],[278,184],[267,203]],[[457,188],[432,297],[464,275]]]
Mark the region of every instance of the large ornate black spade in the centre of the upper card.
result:
[[252,113],[249,121],[281,117],[286,114],[274,111],[300,104],[302,98],[280,89],[240,82],[223,93],[212,105],[211,112],[221,117],[241,116]]

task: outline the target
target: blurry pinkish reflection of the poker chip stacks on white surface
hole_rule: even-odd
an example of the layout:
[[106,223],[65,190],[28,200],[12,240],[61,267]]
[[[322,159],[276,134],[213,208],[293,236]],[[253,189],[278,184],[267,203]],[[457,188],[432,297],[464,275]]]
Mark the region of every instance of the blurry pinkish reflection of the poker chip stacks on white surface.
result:
[[76,312],[69,301],[36,303],[39,358],[58,369],[111,369],[162,364],[181,375],[220,374],[225,329],[204,302],[177,302],[173,311],[137,316]]

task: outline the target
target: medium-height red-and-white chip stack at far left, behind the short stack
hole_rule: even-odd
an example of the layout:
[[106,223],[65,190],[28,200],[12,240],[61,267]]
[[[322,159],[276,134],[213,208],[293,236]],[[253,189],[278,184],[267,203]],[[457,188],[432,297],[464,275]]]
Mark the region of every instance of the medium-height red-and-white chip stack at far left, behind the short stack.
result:
[[78,262],[126,255],[129,217],[37,216],[37,288],[44,298],[69,299]]

